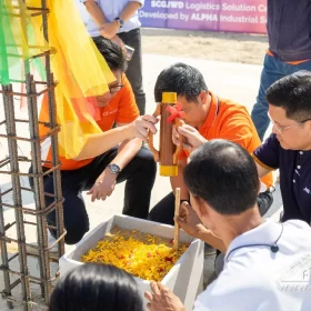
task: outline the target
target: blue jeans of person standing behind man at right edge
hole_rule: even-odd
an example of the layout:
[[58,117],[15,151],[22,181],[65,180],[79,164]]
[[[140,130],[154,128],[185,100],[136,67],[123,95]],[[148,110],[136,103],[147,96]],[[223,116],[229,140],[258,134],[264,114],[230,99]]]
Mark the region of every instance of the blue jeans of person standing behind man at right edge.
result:
[[299,70],[311,70],[311,61],[305,61],[300,64],[289,64],[274,57],[265,56],[257,102],[251,112],[253,123],[261,140],[263,140],[264,133],[270,124],[265,91],[275,81]]

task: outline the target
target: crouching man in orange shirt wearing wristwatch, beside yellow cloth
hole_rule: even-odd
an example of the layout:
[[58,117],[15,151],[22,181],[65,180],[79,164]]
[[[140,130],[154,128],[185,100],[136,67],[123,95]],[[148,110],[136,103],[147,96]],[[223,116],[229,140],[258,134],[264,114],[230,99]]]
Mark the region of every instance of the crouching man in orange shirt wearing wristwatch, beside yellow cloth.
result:
[[[127,181],[123,213],[146,219],[157,172],[153,156],[142,147],[141,141],[147,140],[147,130],[157,131],[153,126],[157,120],[152,116],[139,117],[134,94],[124,74],[127,61],[122,49],[107,39],[94,42],[117,81],[109,86],[109,96],[88,99],[96,102],[99,109],[100,118],[97,123],[102,133],[91,136],[78,158],[60,157],[61,187],[64,197],[63,220],[67,230],[64,241],[68,244],[79,242],[89,231],[82,191],[88,190],[92,201],[106,200],[113,192],[116,183]],[[41,121],[44,120],[47,109],[41,108]],[[113,129],[114,123],[117,127]],[[40,136],[44,136],[43,130],[41,127]],[[49,140],[41,143],[41,153],[44,161],[43,171],[48,171],[51,161]],[[30,184],[33,187],[31,178]],[[50,174],[44,177],[44,191],[53,193],[53,179]],[[47,207],[52,202],[53,198],[46,197]],[[56,224],[56,212],[49,213],[48,223]],[[54,231],[51,233],[56,237]]]

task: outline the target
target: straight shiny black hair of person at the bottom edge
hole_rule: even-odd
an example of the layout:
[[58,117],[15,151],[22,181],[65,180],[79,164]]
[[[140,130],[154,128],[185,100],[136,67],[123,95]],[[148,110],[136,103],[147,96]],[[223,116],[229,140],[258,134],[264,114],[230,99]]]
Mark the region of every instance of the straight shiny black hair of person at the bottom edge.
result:
[[49,311],[142,311],[143,301],[132,275],[109,264],[88,263],[61,279]]

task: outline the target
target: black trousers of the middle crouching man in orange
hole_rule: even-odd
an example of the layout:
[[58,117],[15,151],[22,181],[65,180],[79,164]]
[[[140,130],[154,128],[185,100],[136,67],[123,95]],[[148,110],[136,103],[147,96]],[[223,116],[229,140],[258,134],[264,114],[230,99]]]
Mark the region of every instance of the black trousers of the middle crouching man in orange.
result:
[[[259,193],[257,198],[260,214],[263,215],[273,203],[273,195],[270,191]],[[174,194],[164,197],[149,213],[148,219],[165,224],[174,224]]]

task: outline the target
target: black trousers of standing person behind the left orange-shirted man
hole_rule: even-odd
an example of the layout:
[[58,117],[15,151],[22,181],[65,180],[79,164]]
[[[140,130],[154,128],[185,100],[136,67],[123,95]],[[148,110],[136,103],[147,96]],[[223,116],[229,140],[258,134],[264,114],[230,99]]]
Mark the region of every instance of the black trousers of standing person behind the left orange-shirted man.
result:
[[146,112],[146,94],[143,92],[142,86],[142,53],[140,28],[133,29],[129,32],[118,33],[118,36],[127,46],[136,49],[132,59],[128,63],[127,78],[129,79],[133,89],[140,114],[143,116]]

